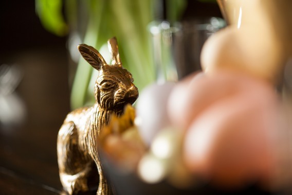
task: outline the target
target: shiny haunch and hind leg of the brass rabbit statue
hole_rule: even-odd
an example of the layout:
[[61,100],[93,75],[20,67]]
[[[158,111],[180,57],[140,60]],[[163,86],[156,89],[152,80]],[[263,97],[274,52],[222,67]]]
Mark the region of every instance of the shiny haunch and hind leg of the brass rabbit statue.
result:
[[78,147],[78,130],[74,122],[65,122],[57,140],[60,179],[68,194],[88,191],[87,179],[93,161]]

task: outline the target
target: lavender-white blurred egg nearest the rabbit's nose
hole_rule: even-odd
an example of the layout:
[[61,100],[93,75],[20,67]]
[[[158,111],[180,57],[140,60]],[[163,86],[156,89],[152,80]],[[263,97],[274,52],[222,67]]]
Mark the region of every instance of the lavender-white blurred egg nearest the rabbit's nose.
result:
[[135,124],[147,144],[151,144],[159,130],[169,126],[170,121],[166,107],[174,85],[173,82],[151,84],[139,95]]

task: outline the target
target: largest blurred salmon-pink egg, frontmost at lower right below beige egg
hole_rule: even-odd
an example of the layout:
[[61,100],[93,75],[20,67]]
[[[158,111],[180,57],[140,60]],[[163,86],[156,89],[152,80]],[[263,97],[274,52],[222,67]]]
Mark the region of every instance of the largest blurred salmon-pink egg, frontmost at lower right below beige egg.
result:
[[[281,131],[275,90],[266,82],[236,74],[215,74],[206,83],[201,90],[208,94],[198,94],[218,97],[222,90],[225,95],[192,119],[183,149],[186,165],[221,186],[269,179],[275,171],[274,136]],[[192,104],[202,100],[193,98]]]

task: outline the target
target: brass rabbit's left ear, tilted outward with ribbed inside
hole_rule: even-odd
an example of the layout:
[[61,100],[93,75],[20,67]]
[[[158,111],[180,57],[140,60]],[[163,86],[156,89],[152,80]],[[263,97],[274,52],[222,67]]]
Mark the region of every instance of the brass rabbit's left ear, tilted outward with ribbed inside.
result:
[[101,67],[106,64],[105,60],[100,55],[98,50],[96,50],[92,46],[81,44],[78,45],[78,50],[82,57],[95,69],[100,70]]

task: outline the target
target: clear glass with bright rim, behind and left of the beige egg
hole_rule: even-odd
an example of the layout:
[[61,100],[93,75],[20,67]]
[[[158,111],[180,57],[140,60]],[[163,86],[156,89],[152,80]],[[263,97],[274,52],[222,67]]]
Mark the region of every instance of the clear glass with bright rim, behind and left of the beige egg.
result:
[[226,26],[223,19],[208,17],[171,26],[166,21],[149,24],[156,69],[156,81],[177,81],[200,68],[203,44]]

